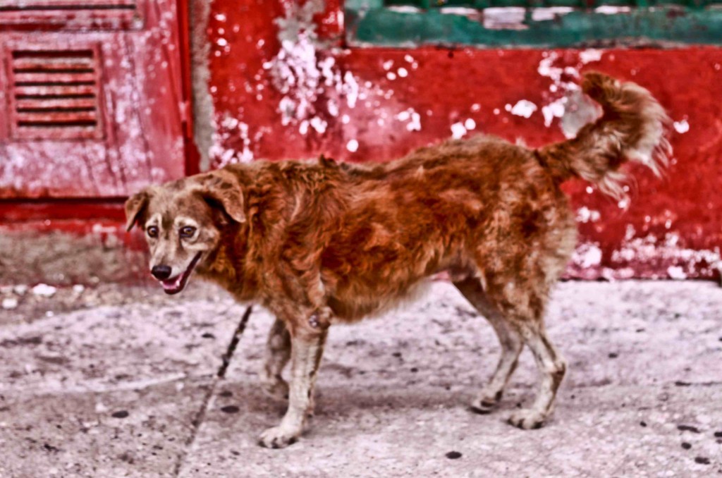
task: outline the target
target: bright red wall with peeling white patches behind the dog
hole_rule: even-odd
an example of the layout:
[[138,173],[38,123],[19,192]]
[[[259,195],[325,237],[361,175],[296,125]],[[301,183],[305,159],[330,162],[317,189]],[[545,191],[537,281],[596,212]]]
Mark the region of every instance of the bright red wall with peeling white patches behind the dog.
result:
[[479,133],[558,141],[589,118],[575,80],[595,69],[642,84],[669,110],[674,160],[662,180],[634,170],[629,205],[565,185],[581,232],[568,275],[719,277],[721,48],[344,48],[343,22],[337,0],[211,4],[213,128],[199,141],[210,167],[320,153],[384,161]]

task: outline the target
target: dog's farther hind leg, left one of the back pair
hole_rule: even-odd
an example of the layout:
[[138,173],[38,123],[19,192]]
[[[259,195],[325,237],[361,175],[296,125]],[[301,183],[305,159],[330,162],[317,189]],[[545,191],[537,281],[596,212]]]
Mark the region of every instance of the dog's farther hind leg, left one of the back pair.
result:
[[463,281],[454,282],[454,285],[469,300],[471,305],[474,305],[474,308],[479,310],[479,313],[491,323],[501,346],[501,357],[492,378],[477,397],[471,401],[471,409],[474,412],[489,413],[499,403],[504,387],[516,369],[519,354],[523,348],[523,340],[521,334],[505,320],[500,311],[484,294],[479,279],[464,279]]

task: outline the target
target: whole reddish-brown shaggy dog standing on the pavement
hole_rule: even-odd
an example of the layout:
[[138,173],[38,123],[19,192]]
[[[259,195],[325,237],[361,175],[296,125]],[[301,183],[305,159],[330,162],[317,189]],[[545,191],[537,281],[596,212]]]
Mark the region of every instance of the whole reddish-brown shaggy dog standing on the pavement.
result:
[[541,384],[531,407],[508,421],[530,429],[549,419],[567,364],[547,337],[544,309],[577,241],[560,184],[583,178],[622,199],[625,162],[660,175],[671,153],[669,118],[648,90],[599,73],[585,74],[582,90],[602,116],[538,149],[478,136],[373,165],[258,161],[126,201],[127,229],[142,226],[165,292],[181,292],[195,273],[277,317],[261,375],[289,404],[261,446],[288,446],[302,432],[331,324],[392,307],[442,271],[501,344],[471,408],[497,406],[526,345]]

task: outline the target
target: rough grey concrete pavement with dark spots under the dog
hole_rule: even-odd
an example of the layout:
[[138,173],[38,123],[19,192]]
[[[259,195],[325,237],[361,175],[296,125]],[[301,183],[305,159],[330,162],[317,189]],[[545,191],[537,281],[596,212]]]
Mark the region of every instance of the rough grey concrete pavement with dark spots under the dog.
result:
[[567,357],[554,419],[524,352],[495,414],[466,404],[494,333],[449,284],[334,326],[299,443],[256,445],[284,403],[257,385],[271,317],[191,282],[159,289],[0,289],[0,477],[708,477],[722,475],[722,289],[565,282],[547,319]]

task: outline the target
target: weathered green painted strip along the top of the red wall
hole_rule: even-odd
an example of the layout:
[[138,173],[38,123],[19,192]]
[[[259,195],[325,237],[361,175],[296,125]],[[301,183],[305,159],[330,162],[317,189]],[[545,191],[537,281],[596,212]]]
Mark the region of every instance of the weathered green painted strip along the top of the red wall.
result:
[[[386,0],[399,1],[399,0]],[[417,0],[414,0],[417,1]],[[431,0],[434,1],[434,0]],[[478,0],[477,0],[478,1]],[[494,6],[497,0],[487,0]],[[605,0],[604,4],[612,4]],[[640,1],[640,0],[638,0]],[[647,0],[661,1],[669,0]],[[347,42],[350,45],[477,45],[488,47],[570,47],[640,44],[722,45],[722,0],[716,6],[700,6],[700,0],[681,0],[694,6],[632,8],[629,12],[604,14],[575,9],[552,19],[534,20],[527,9],[515,28],[484,27],[474,15],[442,13],[443,9],[388,9],[383,0],[347,0]],[[677,0],[679,4],[680,0]],[[471,8],[473,1],[468,1]],[[598,1],[598,3],[601,3]],[[408,5],[407,3],[406,5]],[[559,6],[559,0],[545,1]],[[458,6],[458,5],[457,5]],[[481,12],[480,12],[481,13]]]

